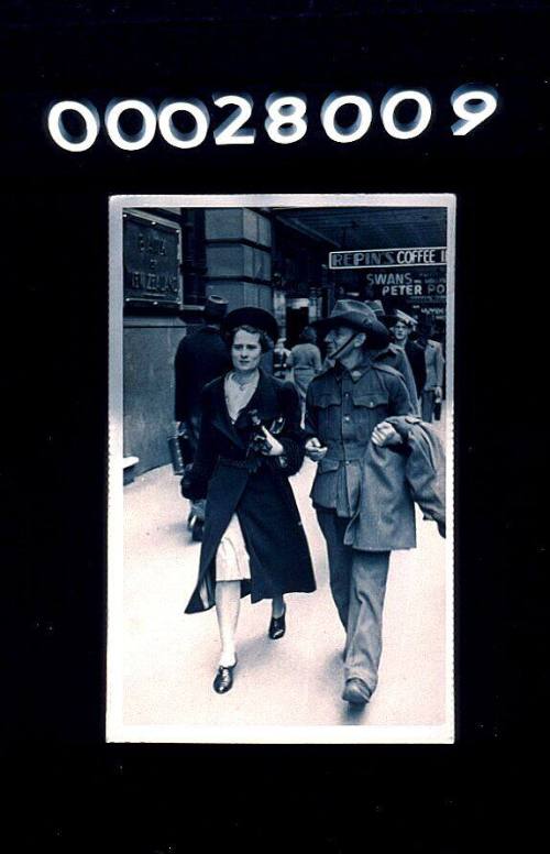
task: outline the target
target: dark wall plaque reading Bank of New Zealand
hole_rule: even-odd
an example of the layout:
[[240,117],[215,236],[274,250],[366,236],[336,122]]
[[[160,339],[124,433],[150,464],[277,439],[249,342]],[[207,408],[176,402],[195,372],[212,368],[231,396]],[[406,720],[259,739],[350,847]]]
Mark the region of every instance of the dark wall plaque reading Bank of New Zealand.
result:
[[124,216],[124,303],[179,307],[179,229],[132,214]]

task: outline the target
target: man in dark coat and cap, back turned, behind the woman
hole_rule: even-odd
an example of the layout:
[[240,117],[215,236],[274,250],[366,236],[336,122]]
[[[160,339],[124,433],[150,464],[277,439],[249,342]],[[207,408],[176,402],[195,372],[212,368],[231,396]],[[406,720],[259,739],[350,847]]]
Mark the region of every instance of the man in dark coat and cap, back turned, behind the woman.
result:
[[[197,331],[182,339],[176,352],[175,419],[179,423],[178,433],[186,436],[193,456],[199,438],[202,388],[231,368],[228,348],[220,332],[227,310],[226,299],[209,296],[204,309],[202,325]],[[205,502],[194,502],[189,514],[194,539],[201,539],[204,523]]]

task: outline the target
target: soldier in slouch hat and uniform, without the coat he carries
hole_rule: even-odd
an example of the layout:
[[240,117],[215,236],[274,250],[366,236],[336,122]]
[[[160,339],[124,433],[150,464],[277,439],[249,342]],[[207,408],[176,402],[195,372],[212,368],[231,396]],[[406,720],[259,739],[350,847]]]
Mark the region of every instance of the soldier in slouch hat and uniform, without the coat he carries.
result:
[[400,452],[402,438],[385,419],[413,413],[402,375],[376,357],[389,333],[364,303],[340,299],[314,324],[332,366],[316,376],[306,398],[306,453],[318,462],[311,499],[327,540],[330,587],[346,633],[342,699],[369,702],[382,653],[382,609],[389,567],[386,551],[345,545],[361,512],[363,458],[371,441]]

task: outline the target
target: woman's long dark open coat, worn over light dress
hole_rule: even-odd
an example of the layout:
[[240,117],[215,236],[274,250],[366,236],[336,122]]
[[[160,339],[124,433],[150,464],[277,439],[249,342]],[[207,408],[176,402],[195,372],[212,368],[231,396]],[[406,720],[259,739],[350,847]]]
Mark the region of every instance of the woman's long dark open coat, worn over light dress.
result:
[[[277,435],[283,457],[250,452],[254,409],[267,428],[284,418]],[[308,544],[288,482],[302,461],[300,406],[292,383],[261,371],[256,391],[234,425],[226,405],[224,377],[205,387],[197,457],[182,482],[186,497],[207,497],[199,577],[186,613],[215,604],[216,552],[233,513],[250,557],[251,580],[241,582],[242,595],[250,593],[256,602],[316,589]]]

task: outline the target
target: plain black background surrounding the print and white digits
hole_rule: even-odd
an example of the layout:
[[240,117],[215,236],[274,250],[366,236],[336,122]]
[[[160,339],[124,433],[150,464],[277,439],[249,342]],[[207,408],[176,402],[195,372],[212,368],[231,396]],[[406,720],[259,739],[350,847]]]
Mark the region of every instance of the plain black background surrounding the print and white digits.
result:
[[[8,559],[2,774],[18,851],[529,850],[543,818],[550,14],[541,2],[4,3],[0,193]],[[153,8],[152,8],[153,7]],[[498,112],[453,138],[461,84]],[[428,131],[331,143],[333,90],[426,87]],[[262,131],[277,89],[309,130]],[[248,91],[254,146],[101,133],[57,149],[51,101]],[[454,746],[105,745],[108,196],[458,197]],[[532,842],[530,839],[532,837]]]

